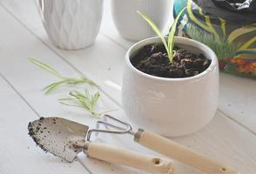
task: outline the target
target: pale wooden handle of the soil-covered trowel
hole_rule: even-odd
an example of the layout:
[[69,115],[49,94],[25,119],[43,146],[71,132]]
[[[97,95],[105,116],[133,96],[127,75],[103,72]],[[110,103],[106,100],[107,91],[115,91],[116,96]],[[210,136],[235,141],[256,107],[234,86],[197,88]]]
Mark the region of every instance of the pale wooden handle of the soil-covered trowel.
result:
[[89,157],[148,171],[154,174],[174,174],[172,160],[153,157],[108,144],[88,143],[86,153]]

